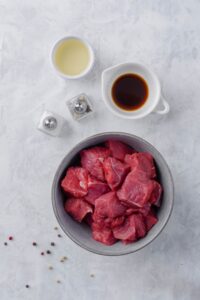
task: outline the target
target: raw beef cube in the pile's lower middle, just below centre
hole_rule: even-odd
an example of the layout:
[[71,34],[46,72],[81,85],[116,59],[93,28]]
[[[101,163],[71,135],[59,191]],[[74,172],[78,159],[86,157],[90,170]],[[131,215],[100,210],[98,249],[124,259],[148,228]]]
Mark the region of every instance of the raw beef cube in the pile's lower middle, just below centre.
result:
[[96,199],[95,214],[107,218],[116,218],[122,216],[126,211],[116,196],[115,192],[109,192]]

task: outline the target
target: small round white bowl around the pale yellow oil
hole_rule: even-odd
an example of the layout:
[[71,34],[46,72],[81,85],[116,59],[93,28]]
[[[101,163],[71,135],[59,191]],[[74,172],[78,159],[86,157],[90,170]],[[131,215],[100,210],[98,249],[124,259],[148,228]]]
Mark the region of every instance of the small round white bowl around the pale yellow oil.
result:
[[[58,48],[58,46],[60,44],[62,44],[62,42],[66,41],[66,40],[69,40],[69,39],[76,39],[76,40],[79,40],[81,41],[82,43],[85,44],[85,46],[88,48],[88,51],[89,51],[89,56],[90,56],[90,62],[87,66],[87,68],[82,72],[80,73],[79,75],[75,75],[75,76],[71,76],[71,75],[67,75],[65,73],[62,73],[59,68],[57,67],[56,63],[55,63],[55,53],[56,53],[56,50]],[[61,39],[59,39],[53,46],[52,50],[51,50],[51,63],[52,63],[52,66],[54,68],[54,70],[56,71],[56,73],[61,76],[62,78],[64,79],[79,79],[79,78],[82,78],[84,76],[86,76],[92,69],[93,65],[94,65],[94,51],[91,47],[91,45],[85,40],[85,39],[82,39],[80,37],[77,37],[77,36],[65,36]]]

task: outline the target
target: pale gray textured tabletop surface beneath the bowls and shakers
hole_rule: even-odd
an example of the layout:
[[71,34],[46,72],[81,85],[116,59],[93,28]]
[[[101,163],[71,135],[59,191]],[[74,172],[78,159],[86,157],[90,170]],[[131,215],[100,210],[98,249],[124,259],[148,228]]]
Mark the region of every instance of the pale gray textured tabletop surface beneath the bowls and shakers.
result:
[[[199,299],[199,16],[197,0],[0,1],[1,300]],[[50,48],[65,34],[81,35],[95,49],[96,65],[87,79],[64,82],[50,67]],[[101,71],[131,60],[158,74],[169,115],[124,121],[107,111]],[[65,100],[80,92],[91,97],[96,114],[75,123]],[[68,118],[61,138],[36,130],[44,109]],[[113,130],[154,144],[171,167],[176,191],[172,218],[156,241],[116,258],[57,239],[50,200],[55,170],[67,150],[83,137]],[[9,234],[15,241],[5,247]],[[39,249],[31,246],[33,240]],[[41,257],[51,240],[55,253]],[[60,264],[64,254],[69,261]],[[24,288],[27,282],[30,290]]]

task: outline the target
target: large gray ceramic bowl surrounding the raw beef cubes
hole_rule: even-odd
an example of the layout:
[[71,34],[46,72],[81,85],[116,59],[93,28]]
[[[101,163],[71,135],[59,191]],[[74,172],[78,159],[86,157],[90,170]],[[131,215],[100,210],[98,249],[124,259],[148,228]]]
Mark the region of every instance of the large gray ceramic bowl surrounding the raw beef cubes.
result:
[[[74,163],[77,154],[84,148],[97,145],[105,142],[108,139],[120,140],[137,151],[148,151],[150,152],[156,162],[158,169],[159,180],[163,186],[164,193],[162,196],[162,204],[158,211],[157,224],[148,232],[148,234],[138,240],[135,243],[124,245],[121,242],[114,244],[113,246],[103,245],[92,239],[91,230],[86,224],[79,224],[74,221],[64,210],[63,207],[63,193],[60,188],[60,182],[63,178],[66,168]],[[84,139],[82,142],[77,144],[60,163],[58,170],[55,174],[53,186],[52,186],[52,202],[53,209],[58,220],[58,223],[62,227],[66,235],[71,238],[76,244],[88,251],[102,254],[102,255],[124,255],[135,252],[144,246],[152,242],[163,230],[172,212],[173,207],[174,188],[173,180],[170,170],[161,156],[151,144],[145,140],[123,132],[106,132],[93,135],[89,138]]]

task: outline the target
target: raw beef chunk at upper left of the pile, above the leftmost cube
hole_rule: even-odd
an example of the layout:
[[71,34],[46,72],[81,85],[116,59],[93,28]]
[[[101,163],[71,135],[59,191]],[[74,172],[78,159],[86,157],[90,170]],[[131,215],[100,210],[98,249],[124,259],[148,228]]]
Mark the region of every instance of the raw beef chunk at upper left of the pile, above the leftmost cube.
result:
[[82,167],[90,172],[91,175],[104,181],[103,161],[110,155],[110,150],[104,147],[93,147],[81,151]]

